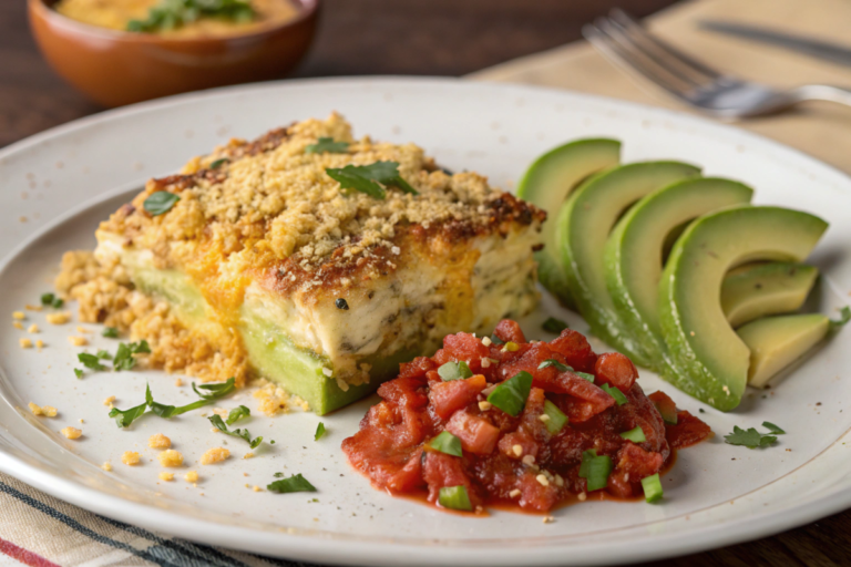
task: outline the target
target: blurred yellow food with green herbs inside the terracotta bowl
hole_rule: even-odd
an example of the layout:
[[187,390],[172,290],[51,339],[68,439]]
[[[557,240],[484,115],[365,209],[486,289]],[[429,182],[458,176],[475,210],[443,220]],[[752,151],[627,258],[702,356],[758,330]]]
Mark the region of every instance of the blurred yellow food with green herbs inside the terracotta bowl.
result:
[[252,33],[299,14],[290,0],[60,0],[54,8],[91,25],[168,38]]

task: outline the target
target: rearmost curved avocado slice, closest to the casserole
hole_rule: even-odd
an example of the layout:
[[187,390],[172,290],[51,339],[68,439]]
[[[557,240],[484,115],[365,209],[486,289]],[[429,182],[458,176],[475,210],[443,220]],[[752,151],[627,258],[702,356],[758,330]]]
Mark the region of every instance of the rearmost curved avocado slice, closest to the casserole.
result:
[[517,186],[517,196],[544,209],[544,248],[536,252],[541,284],[565,307],[575,308],[564,276],[562,256],[555,239],[555,217],[567,196],[589,175],[615,166],[621,161],[621,142],[577,140],[545,153],[526,169]]

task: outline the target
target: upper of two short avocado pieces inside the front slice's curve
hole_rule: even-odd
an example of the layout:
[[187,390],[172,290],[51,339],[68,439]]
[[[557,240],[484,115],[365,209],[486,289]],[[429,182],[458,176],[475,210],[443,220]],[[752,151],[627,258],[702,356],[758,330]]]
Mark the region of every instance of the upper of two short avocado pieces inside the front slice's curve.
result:
[[806,264],[768,262],[731,270],[721,284],[721,309],[734,329],[801,308],[819,270]]

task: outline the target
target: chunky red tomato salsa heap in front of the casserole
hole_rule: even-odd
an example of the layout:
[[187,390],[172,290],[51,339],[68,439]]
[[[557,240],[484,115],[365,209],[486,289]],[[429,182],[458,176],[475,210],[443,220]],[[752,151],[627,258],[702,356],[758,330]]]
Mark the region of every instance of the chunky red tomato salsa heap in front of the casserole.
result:
[[[399,378],[379,388],[382,401],[342,442],[349,463],[376,488],[400,495],[426,491],[438,504],[441,488],[464,487],[473,509],[510,502],[541,513],[587,495],[583,461],[591,456],[611,460],[598,491],[629,498],[643,494],[643,478],[665,468],[673,449],[711,435],[663,392],[645,395],[627,357],[597,355],[576,331],[565,329],[551,342],[526,342],[520,326],[506,319],[494,337],[499,340],[450,334],[433,357],[401,364]],[[444,381],[438,370],[461,361],[471,375]],[[516,415],[486,401],[521,372],[531,374],[532,384]],[[623,395],[609,394],[613,388]],[[561,430],[551,431],[551,420],[542,419],[553,414],[550,404],[567,417]],[[636,427],[644,441],[621,435]],[[461,456],[432,447],[442,432],[460,441]]]

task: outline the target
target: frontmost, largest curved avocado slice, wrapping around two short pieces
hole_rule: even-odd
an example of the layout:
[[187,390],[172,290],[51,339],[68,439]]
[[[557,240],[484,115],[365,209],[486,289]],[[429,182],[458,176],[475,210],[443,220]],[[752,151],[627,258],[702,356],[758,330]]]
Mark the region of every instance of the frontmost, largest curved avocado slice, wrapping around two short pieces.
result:
[[821,218],[781,207],[740,206],[710,213],[683,233],[659,284],[659,321],[676,365],[663,378],[714,408],[741,401],[750,349],[720,308],[725,274],[763,260],[800,261],[828,228]]

